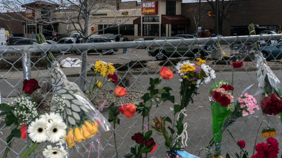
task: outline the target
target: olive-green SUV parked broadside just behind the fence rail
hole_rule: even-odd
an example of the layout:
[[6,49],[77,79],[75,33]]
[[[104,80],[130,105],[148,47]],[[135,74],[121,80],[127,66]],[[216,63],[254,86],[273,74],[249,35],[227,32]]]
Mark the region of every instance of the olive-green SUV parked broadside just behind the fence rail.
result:
[[[156,40],[173,40],[173,39],[184,39],[183,37],[159,37]],[[199,53],[198,53],[199,51]],[[204,57],[208,52],[204,49],[202,45],[187,45],[185,43],[175,46],[150,46],[148,51],[150,56],[156,57],[157,60],[165,60],[167,57],[179,57],[179,56],[189,56],[189,57]]]

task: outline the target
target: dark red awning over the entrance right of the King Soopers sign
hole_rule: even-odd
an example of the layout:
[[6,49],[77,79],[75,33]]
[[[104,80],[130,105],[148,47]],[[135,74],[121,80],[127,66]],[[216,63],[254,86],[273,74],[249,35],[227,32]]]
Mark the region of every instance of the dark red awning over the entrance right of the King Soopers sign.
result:
[[182,15],[162,15],[162,24],[190,24],[190,19]]

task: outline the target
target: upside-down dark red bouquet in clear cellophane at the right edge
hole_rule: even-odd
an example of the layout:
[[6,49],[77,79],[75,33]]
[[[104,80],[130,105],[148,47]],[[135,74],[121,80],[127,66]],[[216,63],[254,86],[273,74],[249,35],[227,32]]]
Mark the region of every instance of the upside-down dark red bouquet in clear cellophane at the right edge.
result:
[[[257,81],[259,90],[256,95],[261,96],[260,105],[262,112],[267,115],[282,116],[282,85],[273,71],[267,66],[262,53],[256,52]],[[281,118],[282,123],[282,118]]]

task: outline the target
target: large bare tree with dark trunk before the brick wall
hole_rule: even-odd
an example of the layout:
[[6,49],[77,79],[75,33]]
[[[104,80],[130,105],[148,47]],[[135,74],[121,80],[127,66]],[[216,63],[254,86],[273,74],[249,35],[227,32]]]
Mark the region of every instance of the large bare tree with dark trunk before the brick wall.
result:
[[[198,2],[198,0],[194,0],[194,2]],[[203,3],[203,7],[205,8],[205,12],[212,11],[215,13],[215,0],[201,0]],[[222,26],[223,21],[227,19],[227,16],[238,9],[238,0],[219,0],[218,4],[218,33],[222,34]],[[206,14],[207,15],[207,14]],[[208,16],[208,15],[207,15]],[[215,17],[211,17],[215,19]]]

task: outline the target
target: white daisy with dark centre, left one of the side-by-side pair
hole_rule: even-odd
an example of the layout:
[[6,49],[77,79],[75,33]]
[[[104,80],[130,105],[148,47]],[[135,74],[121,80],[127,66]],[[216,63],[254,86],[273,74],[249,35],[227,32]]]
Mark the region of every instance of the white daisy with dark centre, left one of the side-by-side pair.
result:
[[48,122],[45,119],[35,119],[28,126],[28,136],[32,141],[41,143],[47,140],[45,135],[45,128],[47,127]]

